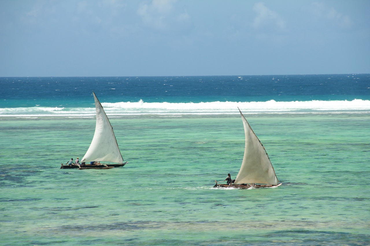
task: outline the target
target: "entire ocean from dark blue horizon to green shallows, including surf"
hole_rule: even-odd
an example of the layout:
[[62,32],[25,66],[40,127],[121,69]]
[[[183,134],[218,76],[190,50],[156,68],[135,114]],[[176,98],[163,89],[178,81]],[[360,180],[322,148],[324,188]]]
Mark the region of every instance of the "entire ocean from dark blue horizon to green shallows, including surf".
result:
[[[1,245],[370,245],[370,74],[1,77]],[[124,167],[60,169],[95,130]],[[238,174],[239,109],[277,188]]]

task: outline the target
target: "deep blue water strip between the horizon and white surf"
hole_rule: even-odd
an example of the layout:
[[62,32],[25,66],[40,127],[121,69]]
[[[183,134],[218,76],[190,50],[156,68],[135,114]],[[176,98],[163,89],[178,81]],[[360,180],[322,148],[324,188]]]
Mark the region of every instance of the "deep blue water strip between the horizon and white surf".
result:
[[91,107],[101,102],[370,100],[370,74],[1,77],[0,107]]

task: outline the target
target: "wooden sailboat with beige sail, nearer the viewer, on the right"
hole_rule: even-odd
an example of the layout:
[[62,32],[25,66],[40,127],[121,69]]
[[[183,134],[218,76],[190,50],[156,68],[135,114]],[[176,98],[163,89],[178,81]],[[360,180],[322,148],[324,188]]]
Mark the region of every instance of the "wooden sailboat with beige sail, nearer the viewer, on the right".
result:
[[243,162],[236,179],[233,180],[231,184],[218,184],[218,182],[215,181],[216,185],[214,187],[252,189],[280,186],[281,183],[279,184],[279,180],[277,180],[275,170],[265,147],[252,130],[252,127],[250,127],[240,109],[239,112],[242,116],[245,133]]

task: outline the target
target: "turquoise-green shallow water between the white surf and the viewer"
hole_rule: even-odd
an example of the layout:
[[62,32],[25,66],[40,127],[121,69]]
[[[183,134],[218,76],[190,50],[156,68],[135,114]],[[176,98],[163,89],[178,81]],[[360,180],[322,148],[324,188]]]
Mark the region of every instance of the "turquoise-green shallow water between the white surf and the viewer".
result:
[[279,188],[213,189],[240,116],[111,118],[123,168],[61,170],[94,118],[0,120],[3,245],[369,245],[370,115],[246,115]]

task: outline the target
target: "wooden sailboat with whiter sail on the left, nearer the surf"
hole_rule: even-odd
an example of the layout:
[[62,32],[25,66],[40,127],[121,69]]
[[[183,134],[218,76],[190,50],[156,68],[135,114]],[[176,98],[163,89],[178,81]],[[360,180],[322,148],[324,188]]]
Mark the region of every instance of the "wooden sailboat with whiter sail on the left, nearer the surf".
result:
[[[113,167],[123,167],[127,164],[127,161],[125,163],[123,162],[121,151],[118,148],[117,140],[109,119],[95,93],[92,92],[92,94],[95,100],[96,126],[90,147],[81,159],[81,167],[78,165],[63,165],[62,163],[61,169],[110,169]],[[101,164],[100,162],[108,163]],[[97,164],[94,165],[94,163]]]

